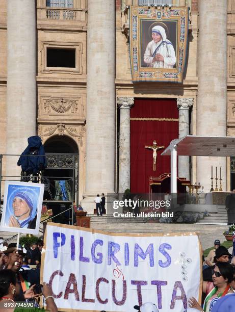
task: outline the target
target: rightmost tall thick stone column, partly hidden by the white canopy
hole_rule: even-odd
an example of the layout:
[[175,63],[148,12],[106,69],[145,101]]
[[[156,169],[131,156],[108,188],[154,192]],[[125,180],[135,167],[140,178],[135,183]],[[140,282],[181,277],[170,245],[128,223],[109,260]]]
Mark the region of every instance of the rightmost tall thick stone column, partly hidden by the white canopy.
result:
[[[199,1],[198,46],[197,135],[226,136],[227,1]],[[221,166],[222,189],[226,191],[225,157],[197,157],[196,166],[197,182],[204,186],[204,192],[211,189],[211,166],[214,172]]]

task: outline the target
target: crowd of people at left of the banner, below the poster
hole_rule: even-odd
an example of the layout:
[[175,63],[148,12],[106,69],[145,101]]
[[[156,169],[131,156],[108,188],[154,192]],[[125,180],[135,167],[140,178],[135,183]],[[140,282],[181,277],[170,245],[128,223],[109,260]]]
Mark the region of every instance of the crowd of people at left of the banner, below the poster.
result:
[[[27,246],[26,246],[27,247]],[[48,311],[57,311],[48,284],[40,285],[40,263],[43,242],[39,240],[25,250],[16,244],[9,244],[0,254],[0,311],[40,311],[39,301],[44,296]],[[26,251],[26,252],[25,252]],[[31,270],[29,265],[35,265]],[[10,303],[24,302],[24,307]]]

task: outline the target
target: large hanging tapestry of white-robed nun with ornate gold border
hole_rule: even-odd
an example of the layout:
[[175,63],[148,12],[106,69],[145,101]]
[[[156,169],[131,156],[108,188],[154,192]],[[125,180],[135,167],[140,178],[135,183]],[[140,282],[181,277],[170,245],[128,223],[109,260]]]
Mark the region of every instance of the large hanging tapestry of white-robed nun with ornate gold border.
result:
[[188,41],[188,7],[130,7],[132,80],[181,83]]

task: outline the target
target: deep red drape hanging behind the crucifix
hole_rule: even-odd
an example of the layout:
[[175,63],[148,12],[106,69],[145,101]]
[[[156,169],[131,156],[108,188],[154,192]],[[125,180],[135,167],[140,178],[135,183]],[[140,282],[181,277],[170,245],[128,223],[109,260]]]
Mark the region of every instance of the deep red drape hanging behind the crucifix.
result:
[[130,109],[130,191],[148,193],[149,177],[170,172],[170,157],[161,156],[164,149],[158,150],[156,171],[153,171],[152,150],[145,145],[167,147],[178,138],[178,121],[132,120],[132,118],[178,119],[175,99],[135,99]]

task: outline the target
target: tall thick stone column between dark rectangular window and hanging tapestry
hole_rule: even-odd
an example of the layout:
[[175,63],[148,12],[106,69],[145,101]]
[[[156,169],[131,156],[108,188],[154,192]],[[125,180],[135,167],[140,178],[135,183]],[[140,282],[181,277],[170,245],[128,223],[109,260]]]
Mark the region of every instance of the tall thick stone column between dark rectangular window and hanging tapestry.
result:
[[96,194],[115,191],[115,2],[88,0],[86,189],[93,212]]

